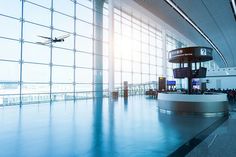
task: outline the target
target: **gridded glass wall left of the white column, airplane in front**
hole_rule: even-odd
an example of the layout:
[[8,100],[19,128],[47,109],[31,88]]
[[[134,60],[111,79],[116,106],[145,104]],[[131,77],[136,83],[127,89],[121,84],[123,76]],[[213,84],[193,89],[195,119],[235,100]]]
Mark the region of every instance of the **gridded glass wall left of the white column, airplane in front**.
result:
[[[88,0],[0,2],[0,105],[91,98],[96,70],[108,95],[108,9],[93,6]],[[102,14],[102,25],[94,24],[95,14]],[[99,54],[96,27],[103,29]],[[102,69],[94,67],[97,56]]]

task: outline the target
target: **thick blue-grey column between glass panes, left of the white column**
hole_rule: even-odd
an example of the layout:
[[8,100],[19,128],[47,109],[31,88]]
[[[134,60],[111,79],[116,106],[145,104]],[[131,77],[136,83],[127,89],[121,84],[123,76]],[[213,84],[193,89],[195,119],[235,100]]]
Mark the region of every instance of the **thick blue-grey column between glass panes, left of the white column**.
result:
[[105,0],[94,0],[94,96],[103,97],[103,5]]

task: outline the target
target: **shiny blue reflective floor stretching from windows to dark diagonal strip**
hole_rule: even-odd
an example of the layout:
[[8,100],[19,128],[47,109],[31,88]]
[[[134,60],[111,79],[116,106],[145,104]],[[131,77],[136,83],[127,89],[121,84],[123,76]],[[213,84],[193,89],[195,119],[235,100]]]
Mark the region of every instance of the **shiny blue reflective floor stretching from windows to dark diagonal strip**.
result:
[[145,96],[3,107],[0,156],[167,156],[217,119],[160,113]]

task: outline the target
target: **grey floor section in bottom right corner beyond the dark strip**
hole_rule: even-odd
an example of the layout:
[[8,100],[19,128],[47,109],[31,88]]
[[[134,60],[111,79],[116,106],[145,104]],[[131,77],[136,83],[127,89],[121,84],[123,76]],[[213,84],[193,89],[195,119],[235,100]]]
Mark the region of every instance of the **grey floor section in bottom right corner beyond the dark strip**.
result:
[[187,157],[236,156],[236,104],[231,104],[229,109],[229,119],[188,153]]

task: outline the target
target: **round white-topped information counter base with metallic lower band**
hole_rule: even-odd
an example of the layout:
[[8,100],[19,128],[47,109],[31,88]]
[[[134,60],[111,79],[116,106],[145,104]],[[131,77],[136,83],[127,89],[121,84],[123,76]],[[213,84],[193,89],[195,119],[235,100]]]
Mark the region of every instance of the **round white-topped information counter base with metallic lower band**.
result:
[[188,95],[177,93],[159,93],[158,107],[160,110],[174,113],[202,114],[206,116],[228,114],[226,94]]

